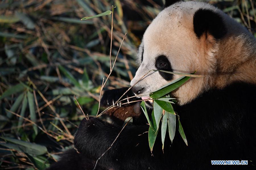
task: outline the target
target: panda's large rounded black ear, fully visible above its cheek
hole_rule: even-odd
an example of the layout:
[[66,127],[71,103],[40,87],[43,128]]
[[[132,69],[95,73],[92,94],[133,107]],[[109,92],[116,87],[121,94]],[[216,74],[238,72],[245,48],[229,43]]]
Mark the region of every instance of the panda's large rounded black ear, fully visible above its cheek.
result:
[[199,9],[193,17],[194,31],[198,38],[203,33],[209,33],[216,39],[222,38],[226,32],[226,26],[220,14],[209,9]]

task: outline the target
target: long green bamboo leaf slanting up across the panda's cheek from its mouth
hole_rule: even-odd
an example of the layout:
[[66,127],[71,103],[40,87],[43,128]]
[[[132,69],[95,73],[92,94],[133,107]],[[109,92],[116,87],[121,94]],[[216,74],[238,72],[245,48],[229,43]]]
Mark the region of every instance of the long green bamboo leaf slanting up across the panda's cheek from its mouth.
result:
[[183,76],[181,78],[178,78],[178,79],[166,84],[165,86],[161,87],[159,90],[150,94],[150,97],[153,98],[153,99],[157,99],[159,97],[162,97],[162,96],[170,93],[171,91],[177,89],[179,86],[181,86],[185,82],[187,82],[187,80],[189,80],[189,78],[190,77],[187,77],[187,76]]

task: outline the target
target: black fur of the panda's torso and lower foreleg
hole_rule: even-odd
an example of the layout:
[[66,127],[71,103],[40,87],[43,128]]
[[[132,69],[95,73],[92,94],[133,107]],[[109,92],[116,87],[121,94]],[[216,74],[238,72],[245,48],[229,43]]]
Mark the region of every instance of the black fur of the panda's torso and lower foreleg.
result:
[[[114,170],[255,169],[255,97],[255,85],[235,83],[205,92],[187,105],[175,105],[188,146],[176,130],[172,144],[166,136],[164,154],[159,135],[151,156],[148,134],[144,133],[148,125],[127,125],[99,165]],[[121,128],[98,118],[84,119],[74,145],[82,155],[96,160]],[[217,166],[211,165],[210,160],[248,160],[249,165]]]

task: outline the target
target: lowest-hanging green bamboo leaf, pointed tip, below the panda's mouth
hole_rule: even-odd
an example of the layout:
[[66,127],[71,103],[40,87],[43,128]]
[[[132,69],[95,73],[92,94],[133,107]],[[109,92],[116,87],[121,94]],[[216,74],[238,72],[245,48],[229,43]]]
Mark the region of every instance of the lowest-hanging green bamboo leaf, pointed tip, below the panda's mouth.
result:
[[152,126],[149,126],[149,129],[148,129],[148,144],[149,144],[150,151],[152,153],[154,143],[156,141],[156,136],[158,133],[158,130],[156,130],[157,126],[156,126],[154,111],[152,111],[150,122],[151,122]]

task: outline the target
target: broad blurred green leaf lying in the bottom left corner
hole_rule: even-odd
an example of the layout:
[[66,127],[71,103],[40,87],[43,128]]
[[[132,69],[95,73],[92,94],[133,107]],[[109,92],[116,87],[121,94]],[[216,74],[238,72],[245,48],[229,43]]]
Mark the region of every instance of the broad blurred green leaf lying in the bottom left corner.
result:
[[0,137],[0,138],[4,139],[5,141],[11,142],[11,143],[0,143],[0,145],[4,144],[3,146],[6,146],[11,149],[15,149],[15,150],[25,152],[28,154],[33,154],[33,155],[42,155],[47,153],[47,148],[42,145],[21,141],[21,140],[9,138],[9,137]]

